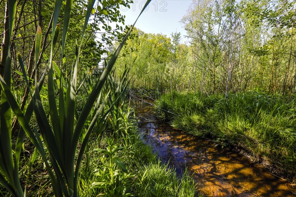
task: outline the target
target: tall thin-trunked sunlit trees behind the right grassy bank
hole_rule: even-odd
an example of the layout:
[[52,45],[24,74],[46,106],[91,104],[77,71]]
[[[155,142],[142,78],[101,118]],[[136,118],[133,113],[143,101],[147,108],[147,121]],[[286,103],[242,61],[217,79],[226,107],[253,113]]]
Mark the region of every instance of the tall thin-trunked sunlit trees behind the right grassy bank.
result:
[[183,18],[194,59],[188,87],[196,89],[198,80],[202,93],[227,96],[259,86],[291,93],[294,16],[287,1],[194,1]]

